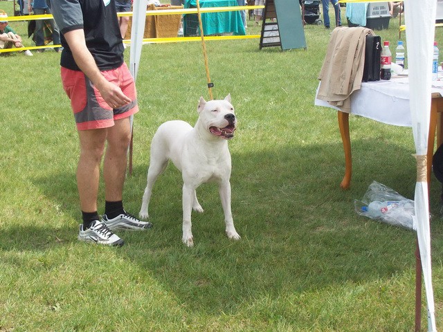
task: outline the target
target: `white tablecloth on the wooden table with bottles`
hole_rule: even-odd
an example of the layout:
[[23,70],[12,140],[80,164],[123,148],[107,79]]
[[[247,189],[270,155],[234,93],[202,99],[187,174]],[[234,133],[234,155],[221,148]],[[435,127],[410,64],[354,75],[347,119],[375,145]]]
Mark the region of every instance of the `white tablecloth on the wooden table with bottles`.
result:
[[[318,86],[320,84],[321,82]],[[432,92],[443,96],[443,80],[433,82]],[[314,104],[339,110],[328,102],[317,99],[317,94]],[[412,127],[408,77],[392,75],[389,81],[362,82],[361,89],[351,95],[350,113],[386,124]]]

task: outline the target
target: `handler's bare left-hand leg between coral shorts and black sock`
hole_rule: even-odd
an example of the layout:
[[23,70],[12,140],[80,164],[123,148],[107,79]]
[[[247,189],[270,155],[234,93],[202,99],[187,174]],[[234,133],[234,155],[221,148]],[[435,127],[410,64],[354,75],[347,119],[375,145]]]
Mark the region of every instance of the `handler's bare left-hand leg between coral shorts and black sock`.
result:
[[107,129],[78,131],[80,158],[77,167],[77,186],[83,212],[97,211],[100,162],[105,149]]

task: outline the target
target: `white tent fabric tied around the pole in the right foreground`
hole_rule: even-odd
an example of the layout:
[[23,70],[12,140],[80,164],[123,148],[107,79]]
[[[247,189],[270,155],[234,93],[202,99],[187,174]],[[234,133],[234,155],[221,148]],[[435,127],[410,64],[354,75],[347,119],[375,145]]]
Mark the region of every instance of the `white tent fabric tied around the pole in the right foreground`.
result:
[[[436,0],[405,0],[406,42],[410,84],[410,113],[417,152],[415,185],[415,222],[428,308],[428,331],[437,331],[431,277],[431,232],[429,230],[428,183],[426,182],[426,149],[431,114],[431,67],[435,37]],[[431,163],[432,160],[427,160]],[[422,174],[425,174],[424,176]]]

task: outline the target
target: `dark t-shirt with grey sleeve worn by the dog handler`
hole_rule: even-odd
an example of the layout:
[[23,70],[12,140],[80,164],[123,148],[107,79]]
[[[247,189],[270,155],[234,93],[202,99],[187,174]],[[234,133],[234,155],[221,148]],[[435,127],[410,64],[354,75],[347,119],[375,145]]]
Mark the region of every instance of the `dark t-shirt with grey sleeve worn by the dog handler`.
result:
[[114,0],[51,0],[51,11],[62,33],[63,67],[80,71],[63,35],[77,29],[84,30],[87,48],[100,71],[123,64],[124,48]]

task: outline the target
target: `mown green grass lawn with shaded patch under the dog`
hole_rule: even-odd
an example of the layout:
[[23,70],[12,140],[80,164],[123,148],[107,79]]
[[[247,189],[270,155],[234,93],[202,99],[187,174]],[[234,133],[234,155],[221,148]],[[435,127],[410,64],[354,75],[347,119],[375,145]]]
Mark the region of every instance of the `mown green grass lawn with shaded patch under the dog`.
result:
[[[393,43],[397,26],[393,19],[377,33]],[[307,50],[285,52],[259,50],[258,39],[206,42],[214,96],[231,93],[239,119],[229,145],[242,240],[226,238],[217,187],[203,185],[194,248],[181,243],[181,176],[172,166],[154,188],[152,230],[120,234],[126,245],[118,249],[78,242],[78,138],[60,55],[0,57],[0,331],[413,331],[415,234],[365,219],[353,205],[374,180],[413,198],[412,132],[350,117],[354,174],[350,190],[340,189],[336,112],[314,107],[329,32],[306,26]],[[442,44],[441,30],[436,39]],[[156,127],[195,122],[199,97],[208,98],[201,44],[144,46],[137,86],[134,172],[125,185],[133,213]],[[440,190],[433,178],[441,328]],[[101,213],[102,196],[100,187]]]

